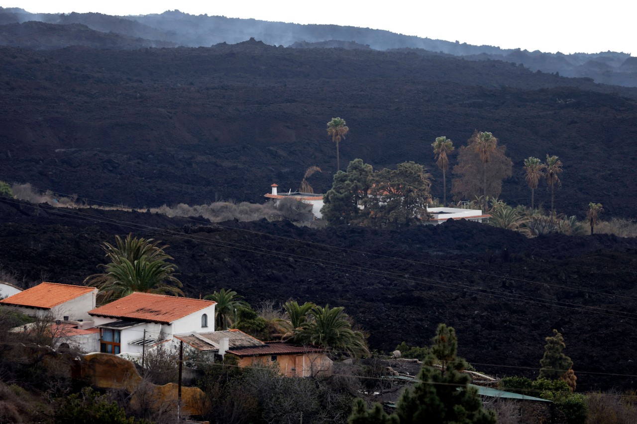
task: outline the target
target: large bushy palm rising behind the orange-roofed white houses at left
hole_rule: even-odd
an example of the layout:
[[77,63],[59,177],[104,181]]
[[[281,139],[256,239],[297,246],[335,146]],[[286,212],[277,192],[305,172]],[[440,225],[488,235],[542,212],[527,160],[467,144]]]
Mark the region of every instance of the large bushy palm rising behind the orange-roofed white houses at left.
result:
[[132,292],[168,293],[183,296],[181,281],[176,278],[176,265],[166,262],[173,259],[164,251],[168,245],[129,234],[124,240],[115,236],[115,245],[101,246],[110,263],[98,265],[102,274],[92,274],[84,284],[99,288],[99,302],[115,300]]

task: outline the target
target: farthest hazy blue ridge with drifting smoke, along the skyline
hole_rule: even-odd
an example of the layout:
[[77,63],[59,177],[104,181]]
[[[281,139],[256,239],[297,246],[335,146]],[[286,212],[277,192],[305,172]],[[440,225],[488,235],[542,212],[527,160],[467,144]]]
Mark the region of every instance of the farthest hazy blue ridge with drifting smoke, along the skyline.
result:
[[[522,64],[532,71],[559,73],[561,76],[592,78],[599,83],[637,87],[637,70],[624,66],[632,58],[627,53],[594,54],[543,53],[497,46],[473,46],[440,39],[406,36],[379,29],[340,25],[300,25],[255,19],[189,15],[181,11],[134,17],[113,17],[101,13],[47,14],[29,13],[18,8],[0,8],[0,24],[41,20],[50,24],[83,24],[102,32],[117,32],[131,37],[170,41],[183,46],[211,46],[239,43],[249,38],[268,45],[294,47],[348,48],[338,41],[369,46],[375,50],[413,49],[447,53],[469,60],[505,60]],[[334,44],[336,43],[336,44]]]

